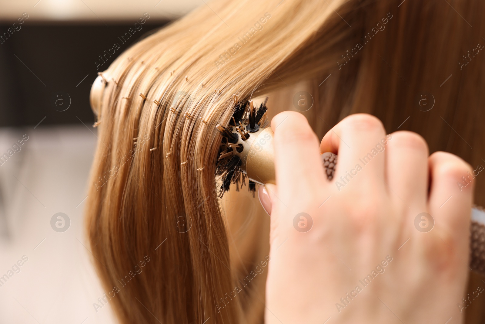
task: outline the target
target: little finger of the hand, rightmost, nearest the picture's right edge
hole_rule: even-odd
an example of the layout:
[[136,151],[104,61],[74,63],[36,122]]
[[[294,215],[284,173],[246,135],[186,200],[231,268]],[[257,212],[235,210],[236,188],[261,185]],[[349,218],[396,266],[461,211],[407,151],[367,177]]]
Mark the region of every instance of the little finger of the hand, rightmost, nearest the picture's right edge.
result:
[[475,186],[473,170],[467,162],[446,152],[431,154],[429,168],[428,208],[438,230],[455,239],[467,236]]

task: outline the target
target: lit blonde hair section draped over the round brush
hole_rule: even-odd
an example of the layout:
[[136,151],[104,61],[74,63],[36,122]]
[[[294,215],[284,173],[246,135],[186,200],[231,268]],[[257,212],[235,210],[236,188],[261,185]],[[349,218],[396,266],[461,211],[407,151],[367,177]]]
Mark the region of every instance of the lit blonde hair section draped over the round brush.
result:
[[[348,33],[320,1],[278,3],[204,5],[122,53],[93,85],[99,143],[87,226],[121,323],[243,323],[250,312],[241,296],[222,299],[236,280],[214,182],[215,125],[228,123],[233,94],[247,100],[333,66]],[[258,33],[216,65],[258,21]],[[323,45],[305,46],[315,40]],[[180,233],[180,221],[190,230]],[[143,273],[127,281],[145,256]]]

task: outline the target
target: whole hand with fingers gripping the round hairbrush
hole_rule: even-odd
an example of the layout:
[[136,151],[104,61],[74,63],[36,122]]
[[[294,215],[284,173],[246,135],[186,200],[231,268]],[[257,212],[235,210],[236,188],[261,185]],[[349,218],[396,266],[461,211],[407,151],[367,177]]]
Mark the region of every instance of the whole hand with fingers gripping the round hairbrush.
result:
[[[271,208],[266,323],[462,323],[473,184],[456,183],[469,165],[428,156],[415,133],[386,136],[365,114],[339,122],[320,149],[301,114],[271,126],[277,186],[270,204],[259,192]],[[339,156],[332,181],[323,152]]]

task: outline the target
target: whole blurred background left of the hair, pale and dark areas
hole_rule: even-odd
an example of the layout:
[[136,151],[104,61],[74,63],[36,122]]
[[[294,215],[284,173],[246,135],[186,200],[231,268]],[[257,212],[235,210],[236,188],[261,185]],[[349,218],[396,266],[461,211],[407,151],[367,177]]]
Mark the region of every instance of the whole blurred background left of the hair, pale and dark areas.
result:
[[199,5],[0,0],[0,323],[115,323],[83,231],[89,90],[132,43]]

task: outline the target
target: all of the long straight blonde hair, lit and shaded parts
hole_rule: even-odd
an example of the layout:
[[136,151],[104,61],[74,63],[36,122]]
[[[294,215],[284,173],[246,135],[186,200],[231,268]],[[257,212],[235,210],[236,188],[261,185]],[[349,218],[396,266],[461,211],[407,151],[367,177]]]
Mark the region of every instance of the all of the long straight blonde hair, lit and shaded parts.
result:
[[[389,132],[417,131],[432,152],[482,163],[485,67],[456,62],[482,41],[484,4],[448,2],[217,0],[102,72],[91,91],[99,141],[87,232],[120,323],[262,322],[265,273],[251,272],[267,262],[269,220],[245,192],[220,200],[215,181],[215,126],[229,123],[234,95],[271,93],[275,114],[305,90],[319,136],[367,112]],[[421,92],[436,101],[427,112]]]

